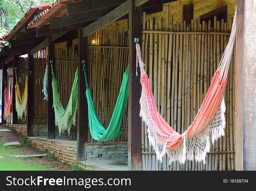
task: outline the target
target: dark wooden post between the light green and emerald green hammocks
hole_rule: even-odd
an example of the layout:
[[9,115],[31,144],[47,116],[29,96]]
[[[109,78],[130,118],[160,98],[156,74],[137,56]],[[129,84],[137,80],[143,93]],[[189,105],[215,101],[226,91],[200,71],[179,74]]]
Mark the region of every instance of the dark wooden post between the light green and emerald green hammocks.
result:
[[88,105],[83,65],[88,68],[87,37],[83,37],[82,29],[78,29],[77,164],[86,160]]

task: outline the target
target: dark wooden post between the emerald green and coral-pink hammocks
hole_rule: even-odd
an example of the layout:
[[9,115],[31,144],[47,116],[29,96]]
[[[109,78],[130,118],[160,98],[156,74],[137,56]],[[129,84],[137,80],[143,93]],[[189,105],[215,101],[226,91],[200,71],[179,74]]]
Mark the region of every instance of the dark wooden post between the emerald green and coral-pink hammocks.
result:
[[141,6],[134,6],[135,0],[129,2],[129,97],[128,97],[128,170],[141,170],[141,117],[140,70],[136,76],[136,43],[141,43]]

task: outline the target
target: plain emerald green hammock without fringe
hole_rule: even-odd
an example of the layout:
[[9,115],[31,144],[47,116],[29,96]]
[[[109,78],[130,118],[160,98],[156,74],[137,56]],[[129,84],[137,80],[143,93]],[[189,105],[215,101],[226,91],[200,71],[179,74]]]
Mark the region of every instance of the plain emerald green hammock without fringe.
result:
[[95,106],[93,104],[91,90],[88,86],[86,68],[83,66],[85,83],[86,83],[86,98],[88,103],[88,119],[90,126],[90,133],[92,138],[97,141],[109,141],[121,135],[121,122],[125,113],[127,100],[128,100],[128,71],[127,67],[124,76],[118,99],[115,105],[115,109],[107,129],[105,129],[102,123],[99,121]]

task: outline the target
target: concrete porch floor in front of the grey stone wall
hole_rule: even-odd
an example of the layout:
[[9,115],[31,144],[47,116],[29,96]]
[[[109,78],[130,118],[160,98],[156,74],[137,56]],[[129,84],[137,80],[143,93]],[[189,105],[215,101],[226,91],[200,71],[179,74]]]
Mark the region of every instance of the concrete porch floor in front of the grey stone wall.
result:
[[128,170],[128,160],[82,160],[79,161],[79,167],[86,170]]

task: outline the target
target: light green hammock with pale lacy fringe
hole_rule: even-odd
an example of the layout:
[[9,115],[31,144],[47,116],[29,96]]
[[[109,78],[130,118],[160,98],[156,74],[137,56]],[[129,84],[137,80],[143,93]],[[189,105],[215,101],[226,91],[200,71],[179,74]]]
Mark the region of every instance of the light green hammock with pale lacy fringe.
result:
[[70,126],[76,123],[76,111],[77,111],[77,88],[78,88],[78,69],[75,73],[75,78],[70,94],[67,107],[64,110],[61,101],[59,92],[57,89],[57,81],[54,76],[53,67],[51,65],[51,74],[52,74],[52,92],[53,92],[53,107],[55,112],[55,125],[59,127],[59,133],[64,130],[70,132]]

